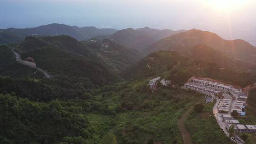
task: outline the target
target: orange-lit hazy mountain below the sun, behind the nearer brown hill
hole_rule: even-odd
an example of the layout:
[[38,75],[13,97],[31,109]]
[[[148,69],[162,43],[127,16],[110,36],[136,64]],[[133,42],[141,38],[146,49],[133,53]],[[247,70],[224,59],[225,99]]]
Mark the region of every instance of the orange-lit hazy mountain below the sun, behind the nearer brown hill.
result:
[[149,45],[144,53],[150,54],[159,50],[175,50],[185,53],[193,46],[205,44],[214,50],[225,54],[233,60],[241,60],[256,64],[256,47],[244,40],[225,40],[217,34],[192,29],[173,36],[163,38]]

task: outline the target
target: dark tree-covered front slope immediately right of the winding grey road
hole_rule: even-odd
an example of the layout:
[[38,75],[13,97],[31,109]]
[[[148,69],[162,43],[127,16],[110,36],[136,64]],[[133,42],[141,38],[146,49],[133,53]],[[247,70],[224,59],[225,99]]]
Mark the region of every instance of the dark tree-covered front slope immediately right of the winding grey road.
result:
[[119,79],[108,62],[70,36],[27,37],[15,50],[23,59],[32,57],[38,67],[53,76],[87,78],[99,86]]

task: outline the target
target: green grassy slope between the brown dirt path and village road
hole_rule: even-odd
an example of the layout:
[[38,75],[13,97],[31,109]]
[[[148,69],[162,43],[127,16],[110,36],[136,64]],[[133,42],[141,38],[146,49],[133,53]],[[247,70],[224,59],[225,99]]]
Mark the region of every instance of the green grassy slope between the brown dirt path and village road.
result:
[[214,103],[205,104],[202,113],[192,111],[186,120],[186,127],[190,131],[195,144],[233,144],[223,135],[212,113]]

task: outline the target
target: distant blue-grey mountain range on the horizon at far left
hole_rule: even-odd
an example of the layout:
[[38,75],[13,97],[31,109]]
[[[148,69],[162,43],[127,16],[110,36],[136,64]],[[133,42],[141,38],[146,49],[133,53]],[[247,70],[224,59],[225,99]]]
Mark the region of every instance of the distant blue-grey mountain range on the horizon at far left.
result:
[[76,27],[64,24],[49,24],[31,28],[8,28],[0,29],[0,44],[21,42],[27,36],[58,36],[68,35],[77,40],[88,40],[94,36],[110,35],[115,29],[96,27]]

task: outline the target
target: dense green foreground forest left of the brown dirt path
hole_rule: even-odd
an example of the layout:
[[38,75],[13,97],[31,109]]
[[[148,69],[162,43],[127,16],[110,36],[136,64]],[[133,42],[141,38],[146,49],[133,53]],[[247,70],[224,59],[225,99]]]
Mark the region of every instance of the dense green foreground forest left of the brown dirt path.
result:
[[182,144],[177,120],[201,95],[172,88],[150,91],[146,81],[138,81],[91,90],[91,98],[84,100],[45,103],[20,98],[15,92],[2,94],[0,135],[9,144],[101,144],[109,133],[120,144],[149,139]]

